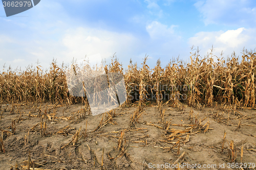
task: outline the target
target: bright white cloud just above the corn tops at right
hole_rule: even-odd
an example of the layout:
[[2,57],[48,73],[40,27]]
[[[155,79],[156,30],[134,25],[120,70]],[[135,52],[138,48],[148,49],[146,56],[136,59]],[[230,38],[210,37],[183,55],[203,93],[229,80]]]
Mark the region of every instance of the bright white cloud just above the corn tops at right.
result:
[[223,51],[223,57],[231,56],[233,52],[241,56],[241,50],[248,50],[256,47],[256,29],[239,28],[237,30],[217,31],[217,32],[199,32],[194,37],[189,38],[190,46],[198,46],[201,49],[200,54],[206,55],[210,52],[213,45],[214,55],[220,57]]

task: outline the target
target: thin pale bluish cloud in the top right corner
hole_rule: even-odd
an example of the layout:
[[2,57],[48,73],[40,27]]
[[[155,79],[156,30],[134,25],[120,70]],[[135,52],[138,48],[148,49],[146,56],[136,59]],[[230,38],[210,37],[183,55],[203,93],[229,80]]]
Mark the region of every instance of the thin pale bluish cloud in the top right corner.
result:
[[254,27],[256,10],[253,1],[246,0],[201,0],[194,4],[202,14],[205,25],[246,25]]

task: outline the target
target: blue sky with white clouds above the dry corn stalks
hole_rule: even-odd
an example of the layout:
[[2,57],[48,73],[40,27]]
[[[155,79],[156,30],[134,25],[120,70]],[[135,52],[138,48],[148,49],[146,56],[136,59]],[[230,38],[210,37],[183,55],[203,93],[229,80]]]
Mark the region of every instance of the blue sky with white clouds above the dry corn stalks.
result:
[[[0,69],[25,69],[37,60],[70,64],[98,54],[109,63],[116,53],[124,67],[145,55],[151,68],[160,58],[190,62],[191,46],[203,57],[241,56],[256,47],[254,0],[41,0],[34,8],[6,17],[0,7]],[[92,60],[95,57],[92,57]]]

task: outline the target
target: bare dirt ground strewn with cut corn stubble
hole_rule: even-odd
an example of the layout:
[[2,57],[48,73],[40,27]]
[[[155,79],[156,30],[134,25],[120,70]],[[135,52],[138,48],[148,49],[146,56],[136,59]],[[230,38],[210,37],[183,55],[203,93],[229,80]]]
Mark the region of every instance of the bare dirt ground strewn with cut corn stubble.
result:
[[29,152],[35,169],[175,169],[177,163],[186,163],[177,169],[256,169],[253,108],[164,105],[161,116],[150,103],[131,122],[136,108],[116,108],[108,121],[107,113],[92,116],[82,104],[3,104],[0,169],[15,169],[16,162],[27,169]]

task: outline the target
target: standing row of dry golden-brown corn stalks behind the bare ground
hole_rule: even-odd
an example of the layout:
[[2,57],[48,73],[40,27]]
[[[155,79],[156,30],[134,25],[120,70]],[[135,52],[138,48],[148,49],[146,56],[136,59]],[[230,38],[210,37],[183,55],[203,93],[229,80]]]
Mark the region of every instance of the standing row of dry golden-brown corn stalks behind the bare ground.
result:
[[[105,72],[123,74],[127,93],[126,103],[139,101],[139,109],[146,105],[148,96],[154,96],[160,104],[179,101],[188,106],[214,106],[215,103],[240,107],[255,107],[256,53],[244,53],[241,58],[232,56],[229,60],[190,56],[190,63],[170,61],[161,67],[158,60],[155,68],[146,64],[147,57],[139,67],[132,63],[124,70],[117,59],[101,68]],[[80,66],[80,71],[87,65]],[[70,95],[66,80],[67,67],[59,67],[52,62],[49,71],[36,69],[0,73],[1,103],[87,103],[86,96]],[[138,94],[136,94],[138,93]],[[137,97],[137,96],[138,97]],[[100,98],[99,98],[100,100]]]

